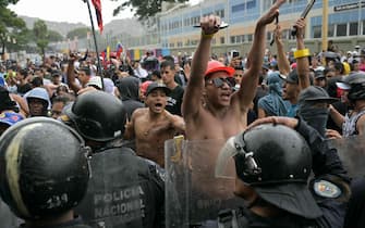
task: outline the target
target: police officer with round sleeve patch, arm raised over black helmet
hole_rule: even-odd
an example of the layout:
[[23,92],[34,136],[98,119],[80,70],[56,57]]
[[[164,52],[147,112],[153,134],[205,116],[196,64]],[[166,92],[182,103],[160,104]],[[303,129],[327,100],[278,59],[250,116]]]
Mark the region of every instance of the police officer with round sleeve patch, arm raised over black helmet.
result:
[[346,172],[336,149],[304,121],[258,119],[230,138],[219,157],[217,175],[227,164],[221,157],[234,159],[234,192],[247,201],[234,213],[221,212],[220,227],[342,227]]

